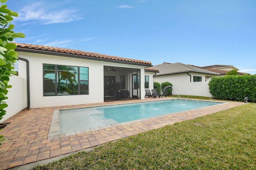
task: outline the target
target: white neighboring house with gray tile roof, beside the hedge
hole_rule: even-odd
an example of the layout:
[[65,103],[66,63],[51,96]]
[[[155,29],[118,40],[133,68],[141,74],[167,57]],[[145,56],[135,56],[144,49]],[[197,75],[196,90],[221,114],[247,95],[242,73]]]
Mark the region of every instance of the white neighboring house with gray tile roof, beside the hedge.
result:
[[218,73],[183,63],[162,63],[154,65],[159,73],[154,75],[154,82],[170,82],[173,95],[195,95],[209,97],[208,83]]

